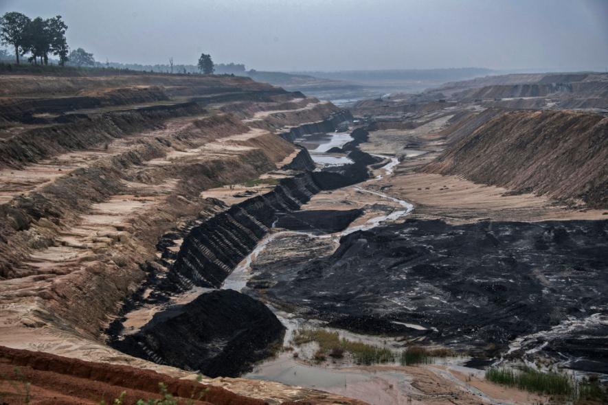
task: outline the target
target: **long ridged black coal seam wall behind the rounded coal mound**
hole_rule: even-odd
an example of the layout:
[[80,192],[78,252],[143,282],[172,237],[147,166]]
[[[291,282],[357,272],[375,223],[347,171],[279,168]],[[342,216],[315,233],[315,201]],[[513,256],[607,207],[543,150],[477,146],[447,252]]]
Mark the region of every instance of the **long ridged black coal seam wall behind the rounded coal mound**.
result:
[[[337,125],[344,120],[344,117],[348,116],[350,116],[350,113],[348,111],[346,111],[346,113],[345,111],[341,111],[340,113],[337,113],[332,119],[333,122],[336,123],[335,125]],[[330,130],[333,129],[335,129],[335,126],[333,128],[330,128]],[[302,153],[307,154],[308,158],[310,159],[307,150],[302,150]],[[368,154],[365,155],[367,157],[370,157]],[[343,174],[346,175],[340,175],[334,172],[328,172],[327,174],[324,174],[324,172],[307,171],[304,172],[304,174],[301,174],[300,176],[282,179],[280,187],[276,187],[275,190],[273,190],[272,192],[269,192],[262,196],[250,198],[249,200],[246,200],[243,203],[240,203],[239,205],[231,207],[223,213],[216,214],[216,216],[213,216],[209,220],[205,220],[205,222],[198,223],[193,221],[192,224],[189,225],[187,228],[183,229],[183,231],[178,232],[181,238],[183,238],[184,242],[181,245],[177,257],[174,253],[169,253],[168,251],[169,246],[174,246],[174,244],[171,244],[168,246],[163,246],[163,248],[161,249],[162,258],[158,260],[161,266],[164,266],[165,268],[170,268],[168,272],[159,272],[159,270],[157,270],[157,268],[155,268],[155,266],[151,264],[140,265],[142,270],[148,273],[148,276],[146,277],[146,281],[144,281],[142,286],[140,286],[137,291],[131,294],[131,297],[124,301],[124,304],[118,314],[119,317],[109,325],[108,329],[106,329],[106,334],[109,336],[110,340],[116,340],[120,336],[123,329],[122,322],[124,322],[125,320],[124,315],[139,308],[142,304],[146,302],[166,302],[168,301],[168,294],[174,292],[183,292],[185,290],[189,290],[194,286],[212,286],[215,288],[221,286],[221,283],[223,283],[225,277],[227,277],[227,275],[229,275],[229,273],[234,270],[236,265],[243,258],[245,258],[251,251],[254,250],[254,248],[258,244],[258,241],[261,240],[267,233],[267,229],[271,228],[273,222],[277,219],[277,213],[288,212],[290,209],[292,211],[300,209],[300,205],[302,203],[305,203],[310,200],[310,198],[314,194],[317,194],[322,189],[345,187],[346,185],[352,185],[354,183],[359,183],[360,181],[365,180],[365,178],[361,176],[361,173],[365,175],[367,174],[365,164],[362,164],[361,162],[357,164],[357,160],[355,160],[355,164],[345,165],[344,167],[346,168],[346,173]],[[333,167],[331,170],[336,170],[336,167]],[[353,176],[349,176],[349,170],[355,170],[357,172],[357,175],[361,178],[356,178],[353,181]],[[339,175],[341,177],[341,181],[339,181],[339,183],[331,181],[331,183],[333,183],[333,187],[319,186],[319,178],[323,178],[324,176],[336,175]],[[273,198],[269,198],[269,196],[273,196]],[[291,198],[289,198],[288,196],[291,196]],[[292,204],[284,202],[284,197],[289,198],[289,200],[292,201]],[[293,200],[293,197],[295,197],[299,203],[296,203],[295,200]],[[264,209],[258,211],[262,211],[264,213],[271,213],[270,219],[267,219],[262,222],[264,223],[264,227],[267,228],[265,230],[260,229],[260,227],[253,226],[253,222],[251,222],[251,218],[253,217],[250,216],[250,218],[246,218],[246,216],[243,215],[243,213],[241,212],[247,210],[244,210],[243,207],[239,207],[240,205],[247,205],[249,209],[251,209],[251,203],[253,201],[264,202],[261,205],[262,207],[264,207]],[[273,212],[273,210],[275,209],[277,211]],[[220,222],[218,216],[221,216],[223,218],[223,222],[226,224],[225,227],[218,226]],[[260,222],[257,219],[256,221]],[[228,222],[230,222],[230,224],[227,224]],[[196,279],[202,281],[200,284],[194,283],[194,281],[192,279],[189,279],[187,275],[184,275],[181,272],[174,270],[178,261],[180,262],[181,266],[192,266],[190,267],[191,269],[194,267],[192,265],[192,262],[194,262],[194,257],[198,257],[198,255],[194,254],[193,256],[191,256],[190,261],[187,261],[185,257],[188,257],[188,249],[194,248],[194,246],[192,246],[192,241],[190,240],[190,238],[196,238],[196,235],[207,235],[201,236],[201,238],[208,238],[210,240],[210,244],[204,245],[205,248],[208,248],[210,252],[212,252],[213,255],[218,259],[220,257],[225,257],[225,261],[220,259],[220,262],[226,264],[226,266],[230,269],[227,272],[224,270],[223,272],[218,273],[218,266],[215,266],[215,268],[213,268],[213,266],[210,266],[212,267],[213,272],[208,278],[213,278],[214,280],[212,281],[207,280],[207,277],[201,277],[199,271],[196,270]],[[232,255],[224,250],[224,248],[227,246],[232,246]],[[173,264],[170,264],[170,262],[166,261],[166,257],[176,257],[176,260]],[[207,259],[205,258],[205,260]],[[199,259],[196,259],[196,262],[201,263]],[[186,272],[186,274],[188,274],[188,272]],[[149,294],[148,298],[144,299],[144,292],[149,288],[152,288],[153,292]]]

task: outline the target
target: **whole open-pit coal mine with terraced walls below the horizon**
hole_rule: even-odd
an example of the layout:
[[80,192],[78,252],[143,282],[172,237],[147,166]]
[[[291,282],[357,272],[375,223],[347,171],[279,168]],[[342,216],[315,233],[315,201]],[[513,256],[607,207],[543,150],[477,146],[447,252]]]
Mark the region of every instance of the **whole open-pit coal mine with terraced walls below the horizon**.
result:
[[0,373],[36,403],[605,400],[605,73],[340,108],[66,72],[0,74]]

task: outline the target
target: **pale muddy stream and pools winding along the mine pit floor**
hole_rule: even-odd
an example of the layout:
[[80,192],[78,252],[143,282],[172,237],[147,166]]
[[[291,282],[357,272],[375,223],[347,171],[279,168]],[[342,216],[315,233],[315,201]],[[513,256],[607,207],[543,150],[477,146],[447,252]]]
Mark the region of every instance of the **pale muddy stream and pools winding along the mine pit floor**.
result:
[[[318,166],[326,167],[351,162],[348,157],[341,157],[338,154],[333,154],[331,151],[332,148],[341,148],[344,144],[353,140],[348,132],[328,133],[324,137],[319,137],[319,135],[314,136],[315,139],[313,140],[309,137],[305,137],[304,139],[297,139],[297,142],[308,148],[313,161],[315,161]],[[412,150],[411,153],[408,152],[407,155],[408,157],[414,157],[423,153],[425,152]],[[381,154],[374,154],[374,156],[387,160],[387,163],[377,170],[379,174],[377,174],[375,178],[371,178],[364,183],[350,185],[344,188],[352,187],[358,192],[377,196],[379,200],[390,200],[393,203],[396,203],[398,207],[401,207],[401,209],[394,209],[392,212],[385,215],[369,218],[364,224],[350,224],[344,231],[325,235],[315,235],[313,233],[297,231],[273,231],[273,228],[225,279],[222,288],[237,290],[239,292],[245,290],[247,281],[249,281],[252,276],[251,264],[255,262],[256,257],[258,257],[260,253],[264,252],[269,247],[269,244],[271,244],[273,240],[300,233],[311,238],[330,239],[337,245],[339,239],[344,235],[348,235],[355,231],[365,231],[374,227],[379,227],[387,222],[394,222],[412,212],[414,206],[407,201],[388,196],[382,192],[364,188],[369,183],[379,181],[386,176],[392,176],[394,167],[399,163],[399,160],[396,157],[389,157]],[[297,247],[294,246],[294,248]],[[412,399],[415,399],[420,395],[420,391],[412,386],[412,377],[407,375],[407,373],[396,369],[396,367],[400,365],[396,362],[384,364],[383,366],[365,367],[357,366],[352,359],[347,357],[344,360],[333,362],[331,365],[328,365],[327,363],[317,364],[305,360],[313,357],[313,353],[317,349],[316,343],[292,347],[294,334],[298,329],[302,328],[324,329],[328,332],[337,332],[340,338],[346,338],[348,340],[358,341],[376,347],[384,347],[396,353],[402,351],[404,346],[403,342],[399,341],[398,338],[357,334],[344,329],[335,329],[326,326],[326,323],[323,321],[304,319],[295,314],[274,308],[272,305],[267,305],[286,327],[283,346],[291,347],[293,351],[282,351],[274,358],[256,364],[253,371],[243,375],[244,378],[271,380],[284,384],[307,386],[331,393],[346,395],[348,397],[355,397],[372,404],[412,403]],[[420,325],[409,323],[405,325],[414,329],[426,329]],[[297,357],[294,356],[294,353],[297,353]],[[446,367],[447,370],[454,369],[461,373],[481,377],[483,371],[463,366],[468,360],[469,358],[466,357],[436,358],[434,364],[441,364]],[[451,376],[449,371],[434,369],[434,372],[442,374],[442,377],[450,378],[453,382],[457,382],[459,385],[464,386],[460,380]],[[480,397],[480,399],[485,397],[481,391],[478,391],[471,386],[467,386],[466,389]],[[489,398],[484,399],[490,400]],[[493,402],[496,403],[495,401]]]

